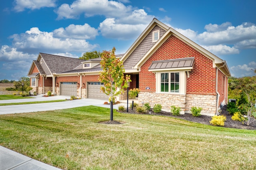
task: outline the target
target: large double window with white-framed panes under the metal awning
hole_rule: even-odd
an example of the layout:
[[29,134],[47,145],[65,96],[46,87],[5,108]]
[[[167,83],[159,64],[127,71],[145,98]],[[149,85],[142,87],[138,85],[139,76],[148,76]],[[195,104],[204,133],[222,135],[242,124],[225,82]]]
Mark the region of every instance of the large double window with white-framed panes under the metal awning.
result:
[[179,93],[180,92],[180,73],[170,72],[161,73],[160,92]]

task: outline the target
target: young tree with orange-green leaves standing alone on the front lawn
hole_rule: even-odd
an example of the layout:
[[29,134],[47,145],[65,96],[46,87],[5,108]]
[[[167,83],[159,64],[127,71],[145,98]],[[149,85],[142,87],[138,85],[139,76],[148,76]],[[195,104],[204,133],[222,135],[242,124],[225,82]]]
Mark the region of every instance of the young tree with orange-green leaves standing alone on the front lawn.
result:
[[115,51],[116,49],[113,47],[112,51],[102,52],[100,65],[103,71],[100,72],[98,79],[104,83],[100,90],[109,96],[110,121],[113,120],[113,101],[115,96],[121,94],[124,88],[128,88],[128,82],[131,81],[128,75],[124,78],[123,62],[116,58]]

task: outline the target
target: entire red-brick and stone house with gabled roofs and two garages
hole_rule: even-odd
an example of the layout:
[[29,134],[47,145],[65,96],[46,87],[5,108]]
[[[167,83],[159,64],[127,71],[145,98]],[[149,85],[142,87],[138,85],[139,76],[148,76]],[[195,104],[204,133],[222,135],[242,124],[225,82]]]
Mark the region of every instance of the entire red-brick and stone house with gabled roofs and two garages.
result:
[[[179,106],[190,113],[193,106],[202,114],[214,115],[220,104],[228,102],[230,71],[210,53],[164,23],[153,19],[123,55],[125,74],[131,76],[130,88],[139,88],[139,104],[161,104],[163,110]],[[100,92],[100,59],[88,61],[39,53],[28,76],[33,91],[45,94],[108,100]],[[126,90],[125,90],[126,92]],[[127,94],[117,100],[126,99]]]

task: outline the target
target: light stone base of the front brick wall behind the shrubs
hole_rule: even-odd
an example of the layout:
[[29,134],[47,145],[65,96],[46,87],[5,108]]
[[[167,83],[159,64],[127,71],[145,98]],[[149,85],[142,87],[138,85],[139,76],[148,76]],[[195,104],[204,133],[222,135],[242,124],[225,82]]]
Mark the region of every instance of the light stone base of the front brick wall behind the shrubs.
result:
[[193,106],[202,107],[201,114],[213,116],[216,113],[216,95],[198,95],[198,94],[162,94],[154,92],[140,92],[138,95],[138,103],[142,106],[149,103],[151,108],[154,104],[161,104],[163,111],[170,112],[171,106],[181,108],[181,114],[191,113]]

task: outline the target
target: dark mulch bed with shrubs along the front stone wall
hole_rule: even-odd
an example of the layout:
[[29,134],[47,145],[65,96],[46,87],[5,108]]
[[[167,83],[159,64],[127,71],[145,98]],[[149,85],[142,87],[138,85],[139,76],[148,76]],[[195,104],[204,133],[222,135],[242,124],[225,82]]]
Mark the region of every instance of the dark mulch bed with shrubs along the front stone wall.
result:
[[[118,111],[121,113],[127,113],[126,111]],[[135,109],[128,109],[128,113],[130,114],[140,114],[138,112],[136,112]],[[194,117],[192,116],[192,114],[190,113],[185,113],[184,115],[180,115],[180,116],[175,116],[172,115],[170,112],[165,112],[165,111],[161,111],[160,113],[154,113],[154,111],[150,110],[147,113],[144,114],[151,114],[151,115],[164,115],[164,116],[170,116],[170,117],[176,117],[179,119],[184,119],[187,121],[192,121],[192,122],[196,122],[196,123],[202,123],[205,125],[211,125],[210,121],[212,120],[211,116],[206,116],[206,115],[201,115],[199,117]],[[242,124],[242,122],[240,121],[234,121],[231,119],[232,115],[229,114],[229,112],[226,110],[226,106],[224,106],[222,108],[222,115],[226,116],[226,121],[225,121],[225,125],[224,127],[229,127],[229,128],[236,128],[236,129],[250,129],[250,130],[256,130],[256,120],[254,117],[252,117],[251,119],[254,120],[254,122],[250,123],[249,126],[246,125],[246,122],[244,124]]]

